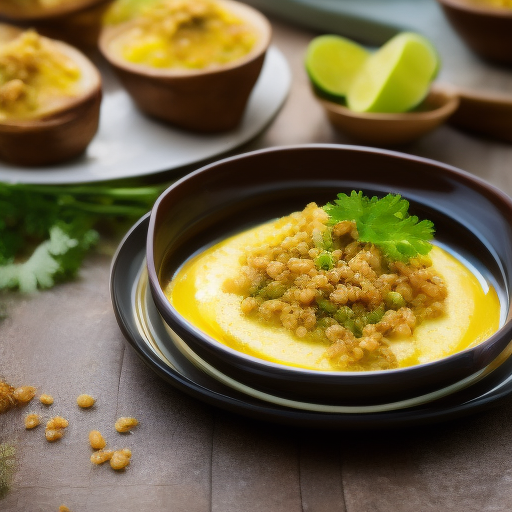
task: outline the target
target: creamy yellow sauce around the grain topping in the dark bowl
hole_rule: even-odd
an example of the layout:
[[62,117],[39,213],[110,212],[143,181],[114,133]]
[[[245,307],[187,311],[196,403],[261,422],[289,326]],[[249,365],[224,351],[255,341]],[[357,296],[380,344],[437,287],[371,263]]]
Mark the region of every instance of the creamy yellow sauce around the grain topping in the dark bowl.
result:
[[[244,315],[242,297],[222,291],[226,279],[239,272],[246,247],[272,244],[280,229],[279,221],[265,224],[207,249],[187,261],[164,292],[190,323],[235,350],[289,366],[332,371],[325,345]],[[499,328],[500,304],[494,288],[484,290],[475,275],[443,249],[434,246],[430,256],[447,285],[446,313],[424,321],[411,338],[390,341],[399,367],[449,356],[484,341]]]

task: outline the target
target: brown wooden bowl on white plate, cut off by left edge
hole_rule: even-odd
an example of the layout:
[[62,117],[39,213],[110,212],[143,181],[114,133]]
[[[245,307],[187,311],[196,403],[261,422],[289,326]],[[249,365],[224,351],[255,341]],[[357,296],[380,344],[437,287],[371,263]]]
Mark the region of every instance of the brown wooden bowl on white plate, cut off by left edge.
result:
[[[0,42],[21,30],[0,24]],[[101,77],[80,51],[53,41],[82,70],[83,94],[70,98],[58,109],[41,110],[30,119],[0,121],[0,159],[16,165],[43,166],[69,160],[82,153],[99,124]]]

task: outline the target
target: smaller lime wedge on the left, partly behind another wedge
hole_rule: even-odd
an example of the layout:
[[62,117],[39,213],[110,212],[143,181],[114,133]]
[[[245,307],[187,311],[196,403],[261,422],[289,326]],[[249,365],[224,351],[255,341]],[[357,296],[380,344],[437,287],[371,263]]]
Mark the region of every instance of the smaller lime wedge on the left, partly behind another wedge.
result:
[[319,36],[309,43],[306,71],[320,93],[343,99],[369,55],[344,37]]

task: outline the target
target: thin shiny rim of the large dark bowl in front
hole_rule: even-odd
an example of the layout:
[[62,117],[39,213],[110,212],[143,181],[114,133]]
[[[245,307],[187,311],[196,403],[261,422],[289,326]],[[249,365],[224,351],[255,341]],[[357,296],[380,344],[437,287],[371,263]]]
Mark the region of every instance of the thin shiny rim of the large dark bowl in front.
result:
[[[331,149],[331,150],[340,150],[340,151],[355,151],[355,152],[362,152],[362,153],[373,153],[373,154],[380,154],[389,156],[392,158],[399,158],[403,160],[409,160],[414,161],[422,164],[427,164],[434,166],[436,168],[441,168],[443,171],[447,172],[450,175],[453,175],[459,179],[462,179],[463,181],[468,182],[472,185],[472,187],[478,188],[480,190],[484,190],[486,192],[486,195],[490,194],[494,197],[499,198],[502,203],[504,203],[508,209],[511,212],[511,218],[512,218],[512,198],[509,197],[507,194],[505,194],[503,191],[501,191],[498,187],[492,185],[491,183],[483,180],[482,178],[479,178],[478,176],[475,176],[467,171],[464,171],[462,169],[459,169],[455,166],[452,166],[450,164],[445,164],[443,162],[439,162],[433,159],[424,158],[416,155],[409,155],[406,153],[401,153],[398,151],[388,150],[388,149],[380,149],[380,148],[373,148],[373,147],[366,147],[366,146],[358,146],[358,145],[349,145],[349,144],[326,144],[326,143],[314,143],[314,144],[298,144],[298,145],[286,145],[286,146],[274,146],[269,148],[263,148],[256,151],[251,151],[248,153],[241,153],[238,155],[230,156],[228,158],[224,158],[221,160],[218,160],[216,162],[207,164],[196,171],[193,171],[190,174],[187,174],[180,180],[173,183],[170,187],[168,187],[165,191],[162,192],[162,194],[158,197],[156,200],[150,215],[149,220],[149,227],[148,227],[148,236],[147,236],[147,243],[146,243],[146,261],[147,261],[147,269],[148,269],[148,278],[150,283],[150,289],[151,293],[153,295],[153,298],[155,300],[155,304],[157,305],[157,308],[160,310],[160,306],[162,306],[166,313],[170,315],[170,318],[175,322],[176,325],[178,325],[181,329],[184,331],[187,331],[191,334],[193,334],[196,338],[199,338],[202,343],[204,343],[206,346],[213,349],[214,352],[224,352],[229,354],[231,357],[247,363],[251,367],[261,367],[261,368],[271,368],[281,374],[286,373],[288,375],[303,375],[303,376],[314,376],[316,378],[320,379],[332,379],[335,377],[339,377],[341,379],[350,378],[353,379],[360,379],[360,380],[366,380],[371,377],[376,376],[388,376],[389,378],[393,378],[394,376],[399,376],[402,374],[407,373],[415,373],[422,371],[424,368],[431,368],[439,366],[440,364],[450,364],[452,361],[458,360],[458,359],[465,359],[470,358],[471,354],[474,353],[475,350],[481,350],[483,346],[487,346],[489,344],[492,344],[494,341],[496,341],[498,338],[501,339],[502,337],[506,337],[508,339],[507,345],[512,342],[512,300],[511,300],[511,294],[512,294],[512,288],[510,290],[507,290],[508,292],[508,308],[507,308],[507,314],[503,320],[503,324],[499,327],[499,329],[493,333],[489,338],[484,340],[483,342],[479,343],[478,345],[475,345],[474,347],[469,347],[464,350],[458,351],[455,354],[451,354],[447,357],[437,359],[434,361],[429,361],[427,363],[421,363],[418,365],[408,366],[404,368],[393,368],[388,370],[370,370],[370,371],[323,371],[323,370],[311,370],[306,368],[298,368],[294,366],[288,366],[280,363],[274,363],[271,361],[266,361],[264,359],[260,359],[248,354],[245,354],[243,352],[239,352],[227,345],[222,344],[215,338],[207,335],[203,331],[201,331],[198,327],[196,327],[194,324],[188,322],[185,318],[183,318],[176,309],[171,305],[167,297],[165,296],[163,289],[160,285],[160,280],[158,278],[158,272],[154,265],[154,250],[153,250],[153,236],[155,233],[155,227],[156,227],[156,217],[157,213],[160,207],[160,204],[163,202],[164,198],[169,194],[172,193],[172,191],[176,188],[178,188],[183,182],[194,178],[195,176],[198,176],[203,173],[207,173],[211,169],[215,169],[219,165],[223,165],[227,162],[237,161],[237,160],[244,160],[246,158],[251,158],[254,155],[260,155],[264,153],[274,153],[274,152],[286,152],[286,151],[295,151],[295,150],[304,150],[304,149]],[[164,318],[164,321],[167,322],[167,320]],[[174,325],[170,326],[172,329],[175,328]],[[180,333],[177,333],[180,335]],[[503,347],[505,348],[505,347]]]

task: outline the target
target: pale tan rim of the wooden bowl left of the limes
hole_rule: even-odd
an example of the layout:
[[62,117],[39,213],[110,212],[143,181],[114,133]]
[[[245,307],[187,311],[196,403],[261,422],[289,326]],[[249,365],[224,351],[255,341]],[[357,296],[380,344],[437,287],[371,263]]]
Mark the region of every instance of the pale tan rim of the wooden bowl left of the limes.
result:
[[[250,5],[237,2],[236,0],[215,0],[216,3],[226,6],[226,8],[233,9],[236,14],[244,13],[240,17],[249,21],[250,24],[256,27],[260,37],[251,48],[251,50],[239,59],[232,62],[222,64],[219,66],[212,66],[200,69],[182,69],[182,68],[155,68],[146,64],[136,64],[126,59],[123,59],[109,48],[110,43],[119,34],[129,30],[136,25],[137,20],[129,20],[116,25],[106,25],[102,28],[98,39],[98,48],[106,60],[114,67],[117,67],[125,72],[147,76],[154,79],[188,79],[196,76],[213,76],[230,71],[232,69],[241,68],[258,58],[260,58],[268,49],[272,37],[272,27],[269,20],[257,9]],[[256,20],[256,23],[252,23]]]

